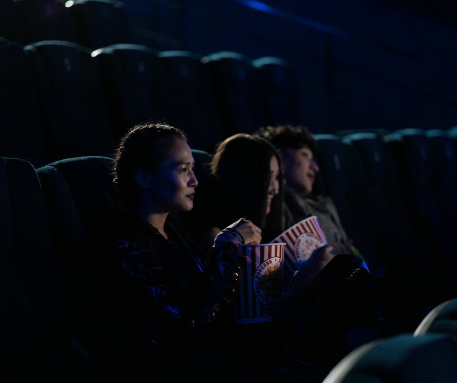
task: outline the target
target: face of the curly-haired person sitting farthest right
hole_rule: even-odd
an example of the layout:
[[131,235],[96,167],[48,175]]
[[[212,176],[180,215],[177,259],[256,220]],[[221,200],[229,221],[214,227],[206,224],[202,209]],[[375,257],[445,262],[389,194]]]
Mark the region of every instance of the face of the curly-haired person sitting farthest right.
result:
[[300,149],[281,149],[284,165],[284,178],[287,186],[300,195],[308,195],[313,190],[319,166],[313,152],[306,146]]

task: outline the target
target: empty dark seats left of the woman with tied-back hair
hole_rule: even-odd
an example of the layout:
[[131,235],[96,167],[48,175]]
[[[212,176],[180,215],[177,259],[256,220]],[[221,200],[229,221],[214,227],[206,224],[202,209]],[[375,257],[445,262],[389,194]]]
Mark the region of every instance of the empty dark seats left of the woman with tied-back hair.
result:
[[0,157],[1,356],[14,381],[106,379],[116,368],[101,250],[117,208],[111,164],[79,157],[35,169]]

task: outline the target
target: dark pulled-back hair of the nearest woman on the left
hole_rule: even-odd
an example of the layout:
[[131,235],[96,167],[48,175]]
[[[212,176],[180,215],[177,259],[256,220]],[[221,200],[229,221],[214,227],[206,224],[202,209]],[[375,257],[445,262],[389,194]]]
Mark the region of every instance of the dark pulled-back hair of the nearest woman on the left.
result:
[[134,172],[155,172],[176,139],[187,142],[182,130],[160,123],[135,125],[121,139],[114,153],[113,176],[127,208],[133,208],[138,188]]

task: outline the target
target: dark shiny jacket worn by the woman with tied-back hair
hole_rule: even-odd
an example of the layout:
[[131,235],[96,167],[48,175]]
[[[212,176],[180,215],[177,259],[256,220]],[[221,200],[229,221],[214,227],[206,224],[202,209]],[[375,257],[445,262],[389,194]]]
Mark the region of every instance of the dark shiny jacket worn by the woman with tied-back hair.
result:
[[244,261],[238,246],[219,241],[205,259],[172,221],[165,225],[168,239],[129,213],[113,222],[113,252],[106,259],[113,354],[137,373],[151,364],[173,368],[207,352],[233,325],[231,300]]

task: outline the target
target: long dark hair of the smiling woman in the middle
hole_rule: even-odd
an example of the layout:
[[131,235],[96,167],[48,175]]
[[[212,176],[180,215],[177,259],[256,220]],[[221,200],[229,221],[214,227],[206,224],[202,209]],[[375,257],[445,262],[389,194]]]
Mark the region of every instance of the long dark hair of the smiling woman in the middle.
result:
[[[270,161],[275,156],[280,165],[280,191],[266,215],[270,184]],[[266,139],[238,133],[216,147],[211,161],[211,174],[218,185],[215,207],[219,226],[225,227],[240,217],[252,221],[262,230],[263,242],[282,232],[282,169],[281,157]]]

